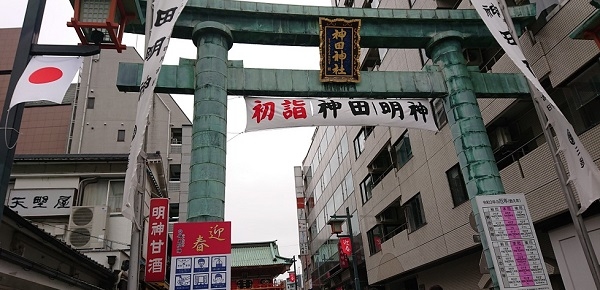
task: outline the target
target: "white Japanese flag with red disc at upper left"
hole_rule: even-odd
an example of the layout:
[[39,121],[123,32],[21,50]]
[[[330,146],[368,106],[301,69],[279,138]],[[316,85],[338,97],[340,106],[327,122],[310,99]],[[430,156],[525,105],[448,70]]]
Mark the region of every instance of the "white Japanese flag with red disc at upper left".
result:
[[82,57],[32,57],[17,82],[9,108],[41,100],[60,104],[82,62]]

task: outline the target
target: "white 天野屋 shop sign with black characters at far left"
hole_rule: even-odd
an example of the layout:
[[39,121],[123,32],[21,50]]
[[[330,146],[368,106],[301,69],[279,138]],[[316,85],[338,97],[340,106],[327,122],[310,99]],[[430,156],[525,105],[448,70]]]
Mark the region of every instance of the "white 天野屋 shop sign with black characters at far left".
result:
[[12,189],[6,206],[21,216],[70,215],[75,189]]

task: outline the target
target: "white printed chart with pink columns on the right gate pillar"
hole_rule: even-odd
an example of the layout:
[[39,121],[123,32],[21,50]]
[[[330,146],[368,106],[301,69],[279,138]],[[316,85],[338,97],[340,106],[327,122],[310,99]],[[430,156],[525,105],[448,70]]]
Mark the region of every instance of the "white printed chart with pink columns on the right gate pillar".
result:
[[552,289],[525,195],[477,196],[500,289]]

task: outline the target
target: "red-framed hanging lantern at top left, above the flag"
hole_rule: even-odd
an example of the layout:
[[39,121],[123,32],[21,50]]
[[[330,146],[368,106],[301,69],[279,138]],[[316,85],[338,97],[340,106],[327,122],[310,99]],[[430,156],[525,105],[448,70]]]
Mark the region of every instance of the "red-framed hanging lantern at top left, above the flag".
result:
[[75,28],[82,44],[121,52],[126,48],[122,43],[125,25],[136,18],[135,8],[127,9],[131,4],[135,5],[132,0],[74,0],[75,16],[67,26]]

